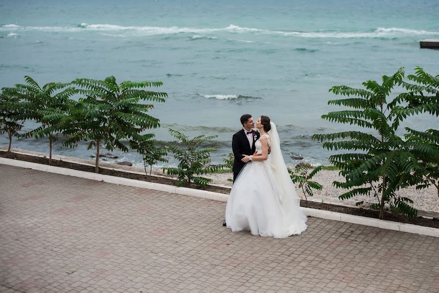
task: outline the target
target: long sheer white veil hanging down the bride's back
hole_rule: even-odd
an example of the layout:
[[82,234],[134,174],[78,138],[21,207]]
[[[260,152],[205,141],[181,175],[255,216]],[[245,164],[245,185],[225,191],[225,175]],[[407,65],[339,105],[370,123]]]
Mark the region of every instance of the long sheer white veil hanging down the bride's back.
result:
[[270,122],[270,126],[272,126],[271,130],[268,132],[271,140],[270,165],[276,181],[279,184],[279,200],[282,205],[284,205],[285,200],[288,199],[289,202],[300,206],[300,200],[297,197],[294,184],[291,181],[290,174],[288,173],[287,166],[285,165],[285,161],[282,156],[279,134],[277,133],[276,125]]

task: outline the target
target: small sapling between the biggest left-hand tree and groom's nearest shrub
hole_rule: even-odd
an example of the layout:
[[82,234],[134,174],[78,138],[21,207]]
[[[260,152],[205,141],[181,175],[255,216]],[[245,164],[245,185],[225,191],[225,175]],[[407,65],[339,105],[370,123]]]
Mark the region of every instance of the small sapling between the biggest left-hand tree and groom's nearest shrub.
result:
[[163,146],[158,146],[158,142],[153,139],[154,134],[145,134],[136,137],[131,144],[131,148],[137,149],[137,152],[142,155],[145,173],[146,166],[149,166],[149,176],[151,176],[152,166],[157,162],[168,162],[164,156],[167,156],[167,151]]

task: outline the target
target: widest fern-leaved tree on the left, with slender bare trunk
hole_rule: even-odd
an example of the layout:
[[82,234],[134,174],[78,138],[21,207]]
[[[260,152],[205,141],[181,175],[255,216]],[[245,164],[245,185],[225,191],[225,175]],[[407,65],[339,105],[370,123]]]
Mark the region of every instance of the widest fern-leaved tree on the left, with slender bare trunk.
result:
[[90,140],[88,149],[96,147],[96,173],[99,173],[101,144],[108,151],[118,148],[127,152],[146,129],[160,126],[159,119],[147,114],[154,105],[139,102],[165,102],[167,93],[144,89],[161,86],[162,82],[124,81],[117,84],[116,78],[110,76],[105,80],[76,79],[72,84],[79,86],[79,92],[85,97],[80,98],[77,107],[70,112],[65,133],[71,137],[65,144],[76,146],[82,139]]

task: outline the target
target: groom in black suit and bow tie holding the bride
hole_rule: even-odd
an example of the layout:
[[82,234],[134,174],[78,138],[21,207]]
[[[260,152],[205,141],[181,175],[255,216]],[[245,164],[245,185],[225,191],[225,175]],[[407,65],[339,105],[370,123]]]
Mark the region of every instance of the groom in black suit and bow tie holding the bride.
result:
[[[231,148],[235,160],[233,161],[233,182],[235,182],[236,177],[238,177],[239,172],[246,165],[243,161],[243,155],[252,155],[256,151],[256,146],[254,143],[259,139],[260,133],[258,131],[253,131],[251,128],[254,127],[253,117],[250,114],[244,114],[241,116],[242,129],[233,134],[231,141]],[[226,226],[226,221],[223,222],[223,226]]]

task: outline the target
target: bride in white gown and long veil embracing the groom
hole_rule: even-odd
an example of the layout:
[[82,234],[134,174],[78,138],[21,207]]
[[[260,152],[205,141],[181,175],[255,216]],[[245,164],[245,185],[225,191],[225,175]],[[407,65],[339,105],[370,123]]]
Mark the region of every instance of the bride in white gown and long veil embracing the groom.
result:
[[285,166],[276,126],[269,117],[261,116],[256,127],[261,136],[255,142],[255,155],[243,155],[243,162],[251,162],[241,170],[230,191],[227,227],[274,238],[300,234],[307,229],[307,216],[300,209]]

